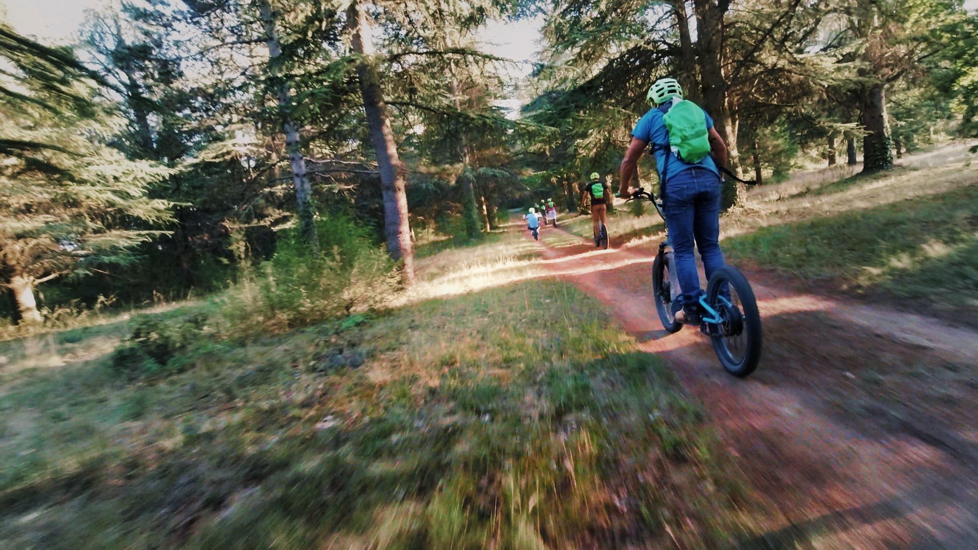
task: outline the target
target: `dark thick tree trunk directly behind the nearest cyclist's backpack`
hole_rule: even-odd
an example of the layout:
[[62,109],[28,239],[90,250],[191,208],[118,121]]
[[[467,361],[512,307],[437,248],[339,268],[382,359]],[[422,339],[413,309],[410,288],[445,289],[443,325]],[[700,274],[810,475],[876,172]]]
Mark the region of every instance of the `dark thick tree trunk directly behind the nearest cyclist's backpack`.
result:
[[[694,0],[696,14],[696,46],[699,51],[700,85],[703,93],[703,109],[713,117],[717,133],[724,139],[729,152],[728,168],[739,171],[737,155],[737,117],[732,101],[727,96],[727,80],[723,73],[724,15],[728,4],[715,4],[709,0]],[[728,178],[724,184],[722,207],[729,208],[740,202],[740,186]]]

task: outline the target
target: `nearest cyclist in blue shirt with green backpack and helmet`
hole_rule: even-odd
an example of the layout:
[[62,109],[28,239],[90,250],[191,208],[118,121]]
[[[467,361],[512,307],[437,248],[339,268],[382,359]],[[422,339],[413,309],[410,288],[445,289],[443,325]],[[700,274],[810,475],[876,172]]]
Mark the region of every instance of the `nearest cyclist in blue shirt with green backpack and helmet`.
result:
[[[693,243],[703,258],[709,279],[724,265],[719,243],[723,178],[717,162],[721,166],[727,165],[727,146],[713,127],[710,115],[695,104],[683,101],[683,89],[676,79],[657,80],[649,88],[646,98],[652,109],[632,130],[632,143],[621,162],[619,195],[630,196],[629,183],[633,177],[638,181],[638,161],[645,148],[651,145],[659,172],[659,195],[676,258],[676,276],[682,291],[680,298],[673,302],[674,313],[681,323],[698,324],[698,298],[702,290]],[[677,109],[670,114],[673,108]]]

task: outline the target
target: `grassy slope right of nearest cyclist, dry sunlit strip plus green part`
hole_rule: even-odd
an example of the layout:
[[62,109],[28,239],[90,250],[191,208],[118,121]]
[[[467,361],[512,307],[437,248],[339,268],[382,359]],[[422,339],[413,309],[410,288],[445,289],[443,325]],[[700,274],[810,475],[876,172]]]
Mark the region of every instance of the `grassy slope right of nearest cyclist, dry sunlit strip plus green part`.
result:
[[728,220],[724,250],[849,296],[975,325],[978,164],[969,155],[945,147],[891,171],[785,187],[796,195],[749,203]]

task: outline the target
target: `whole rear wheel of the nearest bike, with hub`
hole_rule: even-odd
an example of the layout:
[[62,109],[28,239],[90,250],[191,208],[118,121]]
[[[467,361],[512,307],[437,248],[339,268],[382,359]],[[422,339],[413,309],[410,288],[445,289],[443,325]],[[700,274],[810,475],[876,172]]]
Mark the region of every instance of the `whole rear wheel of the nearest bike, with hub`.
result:
[[761,314],[750,283],[735,267],[725,265],[710,277],[706,302],[722,322],[710,325],[710,344],[720,362],[733,376],[754,372],[761,360]]

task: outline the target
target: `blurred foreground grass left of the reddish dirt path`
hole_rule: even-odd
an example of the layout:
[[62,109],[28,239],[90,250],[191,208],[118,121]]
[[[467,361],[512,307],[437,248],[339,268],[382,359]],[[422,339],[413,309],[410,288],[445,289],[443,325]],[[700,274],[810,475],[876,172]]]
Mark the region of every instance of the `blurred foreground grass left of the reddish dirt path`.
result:
[[738,530],[701,410],[561,282],[162,344],[144,351],[178,362],[165,377],[120,378],[107,356],[2,389],[4,546],[701,547]]

